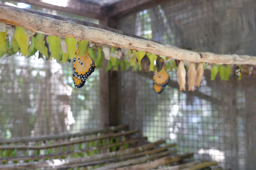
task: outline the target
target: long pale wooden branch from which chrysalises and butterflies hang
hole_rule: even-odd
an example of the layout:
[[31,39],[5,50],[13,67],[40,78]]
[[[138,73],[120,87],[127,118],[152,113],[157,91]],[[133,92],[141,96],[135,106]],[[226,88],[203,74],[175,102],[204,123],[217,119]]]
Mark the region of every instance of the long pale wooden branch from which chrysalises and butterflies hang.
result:
[[118,46],[120,48],[136,49],[168,59],[188,60],[193,62],[209,62],[217,64],[250,64],[256,65],[256,57],[249,55],[219,55],[210,52],[195,52],[164,45],[150,40],[128,37],[99,28],[79,25],[73,22],[56,20],[50,17],[36,15],[20,8],[0,4],[0,21],[7,24],[57,37],[72,37],[78,40],[88,40]]

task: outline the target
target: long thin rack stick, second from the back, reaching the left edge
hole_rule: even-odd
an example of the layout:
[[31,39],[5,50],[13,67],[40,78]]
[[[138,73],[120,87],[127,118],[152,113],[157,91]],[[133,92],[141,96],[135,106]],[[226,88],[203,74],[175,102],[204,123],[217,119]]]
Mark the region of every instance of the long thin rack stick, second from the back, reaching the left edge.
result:
[[99,140],[99,139],[105,139],[105,138],[110,138],[110,137],[118,137],[118,136],[123,136],[123,135],[128,135],[128,134],[133,134],[137,133],[139,130],[130,130],[130,131],[125,131],[125,132],[120,132],[120,133],[112,133],[112,134],[107,134],[107,135],[102,135],[102,136],[96,136],[92,137],[89,139],[80,139],[80,140],[73,140],[73,141],[65,141],[65,142],[59,142],[59,143],[54,143],[50,145],[44,145],[44,146],[28,146],[28,145],[12,145],[12,146],[0,146],[0,150],[12,150],[12,149],[17,149],[17,150],[40,150],[40,149],[49,149],[49,148],[54,148],[54,147],[61,147],[61,146],[67,146],[67,145],[72,145],[76,143],[84,143],[84,142],[90,142],[94,140]]

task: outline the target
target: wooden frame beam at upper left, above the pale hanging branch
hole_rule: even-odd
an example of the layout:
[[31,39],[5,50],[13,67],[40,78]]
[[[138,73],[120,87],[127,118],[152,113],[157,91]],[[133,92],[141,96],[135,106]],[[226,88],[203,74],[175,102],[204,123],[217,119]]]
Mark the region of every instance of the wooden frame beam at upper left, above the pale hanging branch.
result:
[[96,3],[83,3],[81,1],[72,1],[68,3],[66,7],[57,6],[42,2],[40,0],[15,0],[17,2],[23,2],[30,5],[36,5],[42,8],[61,11],[70,14],[76,14],[88,18],[101,19],[108,15],[107,8]]

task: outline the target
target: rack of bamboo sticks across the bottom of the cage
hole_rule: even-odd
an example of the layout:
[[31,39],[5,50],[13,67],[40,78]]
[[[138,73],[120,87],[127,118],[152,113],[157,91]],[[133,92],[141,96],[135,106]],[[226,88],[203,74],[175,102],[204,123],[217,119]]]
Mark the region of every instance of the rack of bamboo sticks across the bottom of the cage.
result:
[[[27,137],[26,142],[34,145],[37,140],[45,139],[49,141],[55,140],[53,144],[42,143],[42,146],[24,146],[30,148],[30,151],[37,149],[39,154],[34,155],[33,152],[29,155],[24,155],[24,150],[19,150],[19,155],[8,155],[0,158],[1,170],[25,170],[25,169],[49,169],[49,170],[67,170],[67,169],[91,169],[96,170],[149,170],[161,166],[161,170],[178,170],[187,168],[186,170],[197,170],[205,167],[215,166],[217,162],[193,162],[183,164],[184,159],[193,157],[193,153],[177,154],[177,150],[173,147],[176,143],[165,144],[165,140],[158,140],[153,143],[145,141],[145,138],[136,138],[130,136],[135,134],[138,130],[128,130],[126,126],[117,126],[107,129],[92,130],[90,132],[81,132],[74,134],[61,134],[57,136],[44,135],[41,137]],[[88,134],[97,134],[100,131],[100,136],[91,136],[90,138],[81,139]],[[119,132],[121,131],[121,132]],[[107,132],[107,134],[105,134]],[[108,134],[109,133],[109,134]],[[75,136],[75,137],[74,137]],[[63,141],[69,140],[71,141]],[[78,137],[78,138],[77,138]],[[60,139],[61,140],[56,140]],[[33,142],[30,142],[30,139]],[[103,139],[107,142],[103,142]],[[116,141],[114,141],[115,139]],[[21,149],[17,141],[24,142],[25,138],[11,138],[6,139],[8,143],[1,146],[5,151],[17,148]],[[12,142],[10,142],[12,141]],[[100,145],[96,144],[101,141]],[[112,141],[112,143],[110,142]],[[140,141],[140,142],[139,142]],[[68,150],[67,145],[72,145],[75,148],[77,145],[87,143],[87,146],[80,145],[78,149]],[[141,143],[141,145],[138,145]],[[9,144],[9,145],[7,145]],[[126,147],[125,147],[126,145]],[[160,146],[161,145],[161,146]],[[133,147],[132,147],[133,146]],[[44,154],[46,149],[66,148],[65,150],[58,150],[58,153]],[[53,150],[52,150],[53,151]],[[10,153],[10,152],[9,152]],[[18,152],[17,152],[18,153]],[[36,153],[36,152],[34,152]],[[2,155],[1,155],[2,156]],[[167,164],[171,166],[167,166]],[[164,166],[164,167],[163,167]]]

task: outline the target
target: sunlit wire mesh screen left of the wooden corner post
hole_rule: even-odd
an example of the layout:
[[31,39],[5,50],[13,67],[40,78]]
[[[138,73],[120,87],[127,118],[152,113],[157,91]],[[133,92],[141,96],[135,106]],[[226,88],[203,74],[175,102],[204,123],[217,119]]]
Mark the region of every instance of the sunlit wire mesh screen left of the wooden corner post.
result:
[[75,89],[72,62],[13,55],[1,58],[0,68],[1,137],[100,127],[98,70]]

